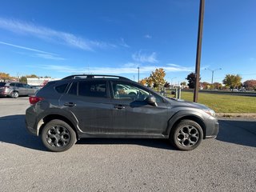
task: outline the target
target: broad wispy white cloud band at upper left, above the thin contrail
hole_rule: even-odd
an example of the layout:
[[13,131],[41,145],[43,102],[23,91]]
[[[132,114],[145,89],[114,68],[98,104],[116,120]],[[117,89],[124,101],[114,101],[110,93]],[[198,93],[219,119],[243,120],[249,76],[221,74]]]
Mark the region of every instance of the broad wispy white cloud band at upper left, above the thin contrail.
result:
[[14,19],[0,18],[0,28],[17,34],[26,34],[37,38],[51,40],[82,50],[94,50],[94,48],[106,48],[114,46],[113,44],[109,44],[107,42],[86,40],[74,34],[52,30],[45,26],[37,26],[30,22],[22,22]]

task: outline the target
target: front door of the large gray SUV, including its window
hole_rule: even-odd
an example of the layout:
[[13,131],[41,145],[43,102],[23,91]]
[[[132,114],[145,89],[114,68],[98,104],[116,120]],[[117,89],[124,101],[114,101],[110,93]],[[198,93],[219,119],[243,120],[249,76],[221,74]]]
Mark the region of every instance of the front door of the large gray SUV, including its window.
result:
[[[162,134],[170,118],[164,100],[142,86],[131,82],[112,81],[112,131],[123,134]],[[122,87],[124,87],[122,89]],[[158,106],[146,102],[154,94]]]

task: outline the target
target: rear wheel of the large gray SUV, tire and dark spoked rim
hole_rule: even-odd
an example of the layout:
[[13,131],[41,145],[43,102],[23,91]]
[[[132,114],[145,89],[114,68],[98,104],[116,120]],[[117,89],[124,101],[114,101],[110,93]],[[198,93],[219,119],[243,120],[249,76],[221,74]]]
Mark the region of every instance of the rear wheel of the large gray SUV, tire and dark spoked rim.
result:
[[77,142],[74,130],[59,119],[54,119],[43,127],[41,138],[44,146],[54,152],[69,150]]

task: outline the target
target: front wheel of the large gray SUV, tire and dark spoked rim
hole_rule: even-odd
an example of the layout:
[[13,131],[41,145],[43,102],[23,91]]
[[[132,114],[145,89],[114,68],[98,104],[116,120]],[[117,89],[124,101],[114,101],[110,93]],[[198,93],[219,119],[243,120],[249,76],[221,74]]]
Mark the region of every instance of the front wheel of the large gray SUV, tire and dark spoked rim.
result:
[[170,142],[178,150],[194,150],[202,142],[202,127],[194,121],[182,120],[170,130]]

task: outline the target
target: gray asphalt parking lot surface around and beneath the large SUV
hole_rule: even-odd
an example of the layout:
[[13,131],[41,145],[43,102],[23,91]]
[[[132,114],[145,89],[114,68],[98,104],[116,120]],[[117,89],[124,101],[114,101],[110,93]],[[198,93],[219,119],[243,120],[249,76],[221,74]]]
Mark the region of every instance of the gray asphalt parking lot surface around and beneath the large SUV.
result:
[[0,98],[0,191],[256,191],[256,122],[220,120],[196,150],[162,139],[83,139],[52,153],[26,132],[28,98]]

